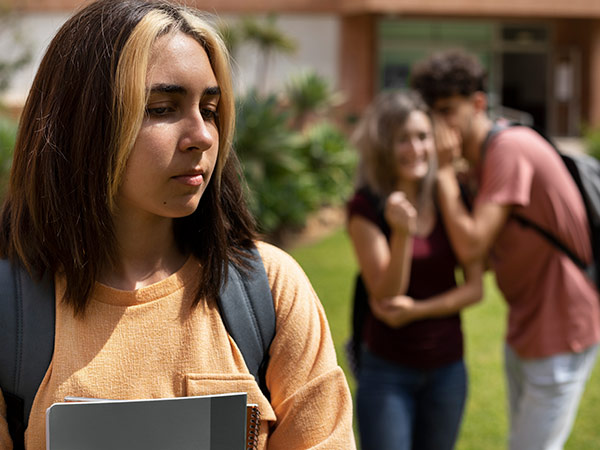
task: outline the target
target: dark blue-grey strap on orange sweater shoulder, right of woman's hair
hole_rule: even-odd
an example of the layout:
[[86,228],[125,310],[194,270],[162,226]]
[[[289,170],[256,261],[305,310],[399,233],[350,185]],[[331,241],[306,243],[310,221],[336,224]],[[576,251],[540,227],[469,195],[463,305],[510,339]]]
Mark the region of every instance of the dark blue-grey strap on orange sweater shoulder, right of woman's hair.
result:
[[269,398],[265,374],[269,347],[275,336],[275,307],[258,250],[252,250],[252,258],[247,262],[247,270],[229,264],[219,309],[225,328],[242,352],[248,370]]

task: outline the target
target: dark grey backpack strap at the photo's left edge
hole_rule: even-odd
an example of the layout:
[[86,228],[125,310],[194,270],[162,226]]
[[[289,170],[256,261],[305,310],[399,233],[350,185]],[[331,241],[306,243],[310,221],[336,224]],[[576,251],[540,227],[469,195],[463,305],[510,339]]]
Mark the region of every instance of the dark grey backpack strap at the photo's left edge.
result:
[[54,286],[0,260],[0,387],[15,450],[54,352]]

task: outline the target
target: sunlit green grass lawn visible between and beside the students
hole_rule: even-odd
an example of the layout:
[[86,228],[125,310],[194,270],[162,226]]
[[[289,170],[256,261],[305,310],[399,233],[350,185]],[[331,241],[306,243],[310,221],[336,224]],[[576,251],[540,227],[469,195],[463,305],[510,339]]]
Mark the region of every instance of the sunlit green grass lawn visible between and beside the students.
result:
[[[322,241],[290,252],[302,265],[327,312],[340,365],[351,389],[343,344],[349,334],[350,299],[356,262],[346,234],[340,230]],[[506,400],[502,369],[506,308],[492,274],[485,279],[483,301],[463,314],[469,399],[458,450],[506,448]],[[596,366],[599,364],[597,363]],[[567,450],[600,448],[600,368],[596,367],[579,408]]]

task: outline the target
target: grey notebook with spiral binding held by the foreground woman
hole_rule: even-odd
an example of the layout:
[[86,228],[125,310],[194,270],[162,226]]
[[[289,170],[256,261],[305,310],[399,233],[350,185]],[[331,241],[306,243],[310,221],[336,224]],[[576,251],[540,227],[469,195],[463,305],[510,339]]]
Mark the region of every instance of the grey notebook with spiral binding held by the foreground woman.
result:
[[46,411],[47,450],[246,450],[260,417],[247,394],[147,400],[71,397]]

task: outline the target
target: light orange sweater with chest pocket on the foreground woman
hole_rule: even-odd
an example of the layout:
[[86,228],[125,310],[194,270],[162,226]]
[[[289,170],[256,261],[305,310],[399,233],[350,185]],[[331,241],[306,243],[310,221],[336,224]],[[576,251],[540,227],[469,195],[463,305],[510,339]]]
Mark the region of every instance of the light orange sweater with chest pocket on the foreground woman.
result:
[[[57,304],[55,349],[35,397],[27,450],[44,450],[45,411],[65,396],[162,398],[248,392],[260,406],[260,449],[355,448],[352,401],[323,308],[298,264],[258,243],[277,332],[262,395],[227,334],[216,304],[190,308],[198,261],[137,291],[97,285],[83,319]],[[63,292],[57,281],[57,298]],[[0,395],[0,449],[12,444]]]

